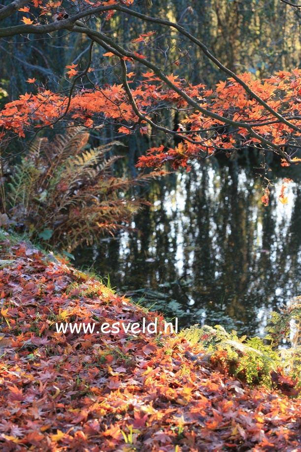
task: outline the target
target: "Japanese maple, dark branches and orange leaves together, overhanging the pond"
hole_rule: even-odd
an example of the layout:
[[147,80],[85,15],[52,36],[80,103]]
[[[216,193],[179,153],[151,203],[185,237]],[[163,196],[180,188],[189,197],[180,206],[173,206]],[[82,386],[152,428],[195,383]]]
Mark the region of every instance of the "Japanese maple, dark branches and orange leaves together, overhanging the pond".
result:
[[[279,7],[283,4],[279,0]],[[136,6],[133,0],[15,0],[0,9],[2,39],[55,40],[64,32],[70,43],[78,35],[87,43],[86,51],[75,52],[66,66],[66,80],[57,84],[57,90],[29,78],[29,92],[4,106],[0,139],[7,153],[2,158],[10,156],[7,143],[13,136],[28,140],[28,134],[34,136],[62,122],[91,130],[113,122],[120,134],[138,129],[141,134],[160,132],[177,139],[177,145],[149,149],[139,159],[140,167],[158,168],[166,162],[174,169],[187,167],[190,160],[220,152],[230,156],[250,145],[263,156],[278,154],[285,166],[301,161],[301,70],[278,71],[264,80],[249,73],[238,76],[179,23],[142,14]],[[18,25],[6,26],[12,15],[19,18]],[[137,24],[136,35],[133,31],[128,42],[118,40],[118,18],[122,17],[134,17]],[[108,27],[113,20],[115,28]],[[142,25],[145,31],[145,24],[149,31],[139,33]],[[166,30],[170,39],[163,51],[156,39]],[[176,58],[177,39],[190,43],[186,53],[192,57],[194,48],[201,50],[228,79],[210,89],[177,76],[182,55],[181,51]],[[159,52],[164,60],[158,59]],[[111,61],[112,83],[100,70],[100,60],[105,59]],[[170,118],[177,119],[175,127]],[[284,195],[280,200],[285,200]],[[268,189],[263,201],[268,202]]]

